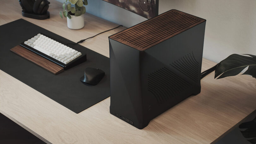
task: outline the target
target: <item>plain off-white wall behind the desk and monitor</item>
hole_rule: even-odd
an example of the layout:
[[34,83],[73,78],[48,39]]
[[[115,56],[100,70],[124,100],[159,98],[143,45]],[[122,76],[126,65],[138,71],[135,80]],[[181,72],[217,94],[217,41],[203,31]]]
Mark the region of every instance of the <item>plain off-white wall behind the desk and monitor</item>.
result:
[[[256,55],[256,0],[159,0],[159,14],[170,9],[206,19],[204,58],[220,62],[233,53]],[[125,27],[146,20],[102,0],[88,0],[86,10]]]

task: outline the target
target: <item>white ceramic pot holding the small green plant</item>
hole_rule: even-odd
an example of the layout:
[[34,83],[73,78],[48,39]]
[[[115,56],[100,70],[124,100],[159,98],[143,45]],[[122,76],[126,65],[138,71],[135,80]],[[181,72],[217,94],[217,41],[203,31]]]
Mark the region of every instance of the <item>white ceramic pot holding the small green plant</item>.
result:
[[67,17],[68,28],[81,29],[84,27],[84,15],[75,16],[71,15],[71,19]]

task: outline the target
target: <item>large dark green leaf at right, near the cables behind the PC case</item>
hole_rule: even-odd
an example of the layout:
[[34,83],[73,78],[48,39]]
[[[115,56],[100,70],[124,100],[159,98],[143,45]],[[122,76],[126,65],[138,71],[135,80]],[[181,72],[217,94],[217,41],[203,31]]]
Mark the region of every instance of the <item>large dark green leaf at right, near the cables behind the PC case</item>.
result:
[[249,55],[251,57],[242,56],[238,54],[232,54],[226,59],[222,60],[216,67],[215,77],[224,78],[227,76],[238,75],[243,69],[249,66],[248,70],[244,73],[256,77],[256,56]]

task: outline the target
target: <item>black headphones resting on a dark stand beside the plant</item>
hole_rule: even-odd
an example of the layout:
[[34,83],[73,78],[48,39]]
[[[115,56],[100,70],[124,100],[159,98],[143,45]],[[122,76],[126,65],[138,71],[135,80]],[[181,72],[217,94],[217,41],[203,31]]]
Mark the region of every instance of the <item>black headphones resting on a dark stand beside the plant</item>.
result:
[[19,2],[25,12],[38,15],[45,14],[50,4],[47,0],[19,0]]

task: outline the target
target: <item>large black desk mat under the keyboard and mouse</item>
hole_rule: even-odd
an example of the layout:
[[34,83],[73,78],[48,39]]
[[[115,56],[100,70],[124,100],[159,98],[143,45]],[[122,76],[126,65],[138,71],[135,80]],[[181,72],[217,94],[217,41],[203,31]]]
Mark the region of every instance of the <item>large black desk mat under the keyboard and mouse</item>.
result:
[[[109,58],[86,47],[69,45],[75,49],[86,49],[87,61],[58,75],[53,75],[10,51],[38,33],[44,33],[64,45],[72,43],[23,19],[12,21],[0,26],[0,69],[75,113],[110,96]],[[102,69],[105,72],[106,75],[98,85],[86,85],[79,80],[87,67]]]

